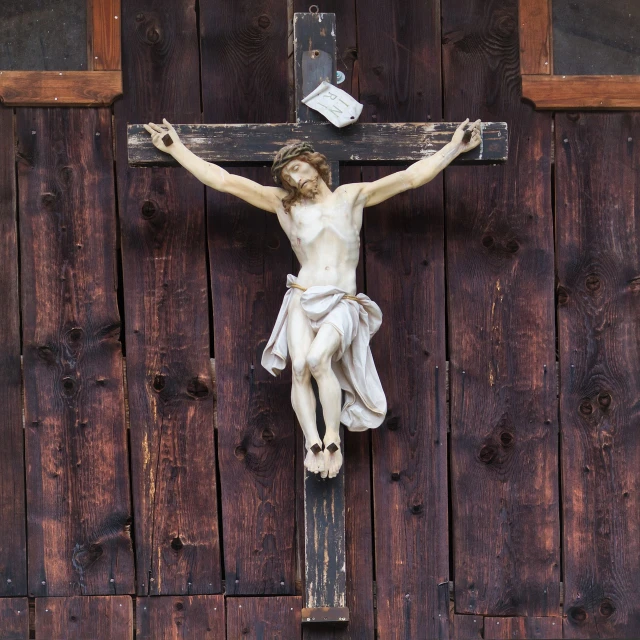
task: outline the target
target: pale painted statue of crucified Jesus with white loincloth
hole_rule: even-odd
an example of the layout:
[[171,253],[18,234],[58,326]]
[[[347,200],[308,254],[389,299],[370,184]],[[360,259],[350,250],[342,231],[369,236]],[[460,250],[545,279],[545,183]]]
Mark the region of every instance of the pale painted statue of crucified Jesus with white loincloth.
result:
[[[467,118],[451,142],[404,171],[375,182],[343,184],[335,191],[330,189],[327,159],[309,143],[280,149],[272,167],[278,186],[266,187],[202,160],[180,142],[167,120],[163,122],[144,125],[156,148],[205,185],[275,213],[291,242],[300,272],[287,278],[288,291],[262,365],[277,375],[291,357],[291,403],[304,432],[304,465],[311,473],[333,478],[342,466],[340,423],[350,431],[373,429],[387,411],[369,348],[382,313],[366,295],[356,295],[363,209],[426,184],[458,155],[477,147],[480,120],[470,125]],[[311,376],[322,404],[324,442],[316,425]]]

